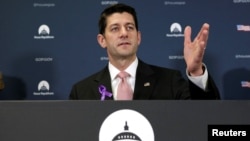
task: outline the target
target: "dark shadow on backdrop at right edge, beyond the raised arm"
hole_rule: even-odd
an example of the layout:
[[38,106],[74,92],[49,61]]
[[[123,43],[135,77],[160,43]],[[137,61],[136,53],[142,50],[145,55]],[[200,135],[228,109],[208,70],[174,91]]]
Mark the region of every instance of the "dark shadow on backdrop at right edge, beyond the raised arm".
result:
[[241,87],[241,81],[250,81],[250,71],[246,68],[230,70],[223,76],[225,100],[250,99],[250,88]]

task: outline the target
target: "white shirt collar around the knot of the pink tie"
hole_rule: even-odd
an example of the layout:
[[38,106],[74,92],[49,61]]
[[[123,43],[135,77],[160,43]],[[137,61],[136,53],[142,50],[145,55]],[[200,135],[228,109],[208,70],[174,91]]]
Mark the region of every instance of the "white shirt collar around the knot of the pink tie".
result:
[[[137,66],[138,66],[138,58],[136,57],[136,59],[125,69],[125,71],[129,73],[131,77],[135,78]],[[116,78],[117,74],[120,72],[120,70],[118,70],[110,62],[108,67],[111,76],[111,81],[113,81]]]

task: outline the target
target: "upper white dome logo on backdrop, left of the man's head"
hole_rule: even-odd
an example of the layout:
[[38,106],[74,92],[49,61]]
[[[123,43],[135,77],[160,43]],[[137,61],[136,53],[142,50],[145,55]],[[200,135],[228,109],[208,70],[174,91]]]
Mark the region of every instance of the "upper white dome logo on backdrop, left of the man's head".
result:
[[34,39],[54,39],[54,36],[50,35],[49,26],[43,24],[38,28],[38,36],[34,36]]

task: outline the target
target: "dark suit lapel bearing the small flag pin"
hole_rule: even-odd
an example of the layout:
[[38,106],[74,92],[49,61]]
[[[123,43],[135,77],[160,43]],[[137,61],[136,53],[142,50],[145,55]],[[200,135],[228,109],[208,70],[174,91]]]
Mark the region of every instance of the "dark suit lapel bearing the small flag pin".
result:
[[155,85],[154,71],[139,60],[136,71],[134,99],[150,99]]

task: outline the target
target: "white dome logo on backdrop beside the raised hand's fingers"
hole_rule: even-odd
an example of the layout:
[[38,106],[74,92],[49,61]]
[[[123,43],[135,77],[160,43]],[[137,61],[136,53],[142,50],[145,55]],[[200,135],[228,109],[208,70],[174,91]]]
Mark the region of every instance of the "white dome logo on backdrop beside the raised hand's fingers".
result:
[[179,23],[172,23],[170,26],[170,33],[166,34],[166,37],[183,37],[182,27]]

